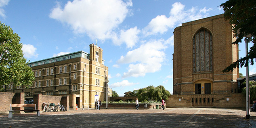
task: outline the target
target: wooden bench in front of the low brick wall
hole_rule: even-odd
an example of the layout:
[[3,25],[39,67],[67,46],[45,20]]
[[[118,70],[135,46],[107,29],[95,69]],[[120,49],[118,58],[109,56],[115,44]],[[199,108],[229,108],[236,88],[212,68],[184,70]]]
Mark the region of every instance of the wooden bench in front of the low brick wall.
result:
[[[12,110],[12,107],[35,107],[35,109],[28,109],[28,110]],[[13,111],[36,111],[36,115],[40,116],[40,110],[36,109],[36,104],[10,104],[10,110],[8,118],[13,118]]]

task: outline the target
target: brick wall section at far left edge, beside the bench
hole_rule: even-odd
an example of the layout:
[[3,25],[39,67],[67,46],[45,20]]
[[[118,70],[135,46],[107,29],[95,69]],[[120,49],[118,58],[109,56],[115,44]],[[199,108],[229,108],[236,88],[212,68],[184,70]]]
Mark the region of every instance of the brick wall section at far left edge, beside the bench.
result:
[[13,92],[0,92],[0,113],[8,113],[14,95]]

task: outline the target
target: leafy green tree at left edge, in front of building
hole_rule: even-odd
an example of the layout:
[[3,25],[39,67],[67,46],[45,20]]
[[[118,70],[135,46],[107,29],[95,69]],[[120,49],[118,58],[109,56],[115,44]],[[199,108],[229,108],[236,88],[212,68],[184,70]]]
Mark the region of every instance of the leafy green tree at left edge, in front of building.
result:
[[[26,63],[19,43],[20,37],[10,26],[0,22],[0,85],[25,86],[29,88],[34,80],[34,72]],[[3,91],[3,87],[0,86]]]

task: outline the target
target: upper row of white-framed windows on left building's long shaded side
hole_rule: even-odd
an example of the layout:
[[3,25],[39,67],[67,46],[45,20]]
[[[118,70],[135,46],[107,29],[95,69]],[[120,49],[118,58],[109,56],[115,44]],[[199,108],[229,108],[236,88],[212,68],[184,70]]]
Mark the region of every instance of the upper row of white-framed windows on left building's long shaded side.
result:
[[[74,70],[76,70],[76,69],[77,69],[77,65],[74,64]],[[42,76],[42,71],[43,70],[35,71],[35,77]],[[46,69],[46,76],[53,75],[53,73],[54,73],[53,68]],[[64,69],[62,66],[59,67],[59,73],[67,73],[67,66],[64,66]],[[43,74],[44,74],[44,72],[43,72]]]

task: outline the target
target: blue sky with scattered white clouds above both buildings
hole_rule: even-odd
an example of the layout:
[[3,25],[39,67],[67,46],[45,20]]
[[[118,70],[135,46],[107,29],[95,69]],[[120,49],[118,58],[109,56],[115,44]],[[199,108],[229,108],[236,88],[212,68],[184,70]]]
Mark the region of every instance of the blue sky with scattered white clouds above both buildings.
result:
[[[173,31],[181,23],[224,13],[226,0],[0,0],[0,21],[21,37],[30,62],[96,43],[109,86],[124,92],[163,85],[172,92]],[[249,44],[249,47],[252,44]],[[245,56],[244,42],[239,58]],[[250,75],[256,65],[249,66]],[[245,76],[245,68],[239,69]]]

